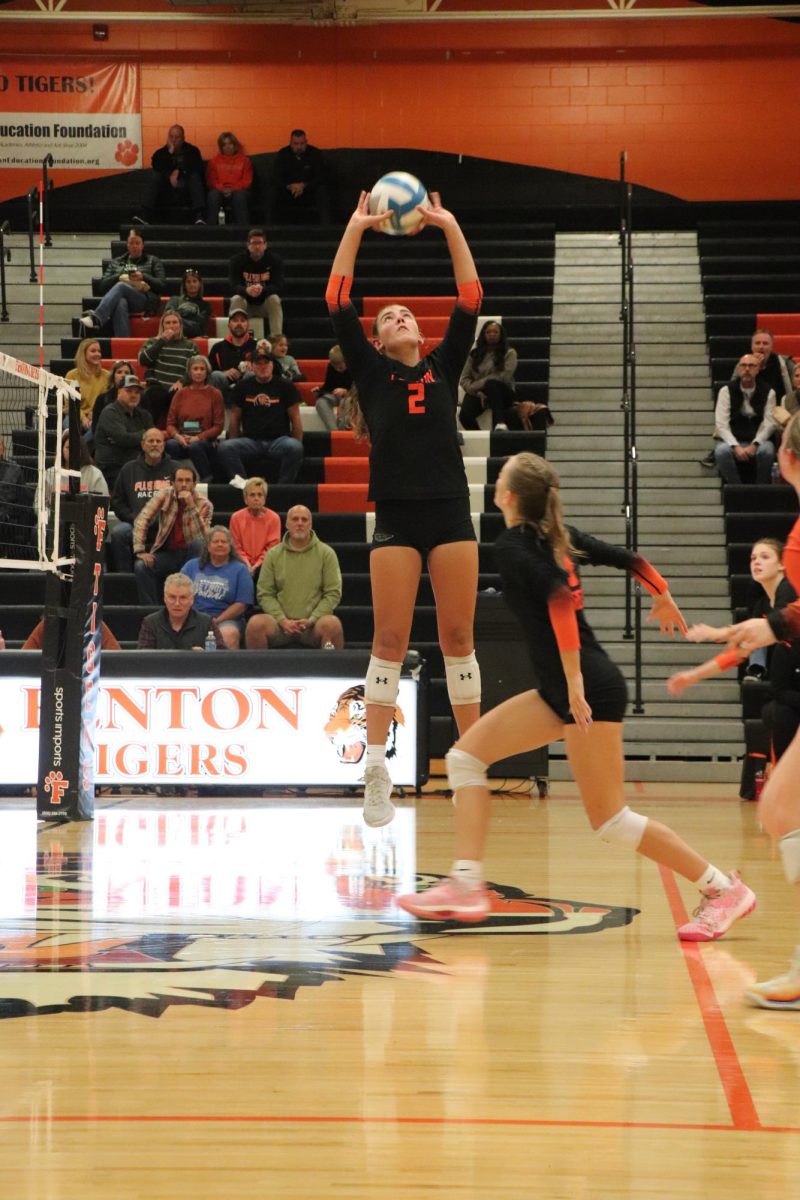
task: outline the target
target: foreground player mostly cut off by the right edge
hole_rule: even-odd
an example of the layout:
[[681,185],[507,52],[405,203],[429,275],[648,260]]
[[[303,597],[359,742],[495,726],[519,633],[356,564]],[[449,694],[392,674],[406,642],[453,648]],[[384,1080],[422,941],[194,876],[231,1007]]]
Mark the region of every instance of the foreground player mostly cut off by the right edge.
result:
[[[781,474],[800,498],[800,413],[795,413],[783,431],[778,450]],[[783,550],[787,578],[800,595],[800,518],[794,524]],[[784,608],[774,608],[766,617],[754,617],[728,630],[728,649],[751,654],[759,646],[800,641],[800,600]],[[800,731],[772,770],[762,792],[759,817],[763,828],[776,838],[783,872],[800,901]],[[800,944],[786,974],[753,984],[747,1000],[762,1008],[800,1009]]]

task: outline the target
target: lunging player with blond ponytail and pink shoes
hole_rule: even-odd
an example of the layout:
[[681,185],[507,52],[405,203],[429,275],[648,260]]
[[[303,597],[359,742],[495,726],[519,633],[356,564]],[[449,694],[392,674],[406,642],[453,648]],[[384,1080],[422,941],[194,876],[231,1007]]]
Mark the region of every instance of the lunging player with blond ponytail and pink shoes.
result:
[[597,642],[583,611],[577,559],[630,571],[652,595],[650,620],[670,636],[686,625],[666,581],[638,554],[564,524],[559,480],[537,455],[503,467],[494,502],[506,528],[495,544],[503,592],[525,634],[541,686],[492,709],[447,754],[456,793],[456,862],[450,877],[401,896],[401,907],[428,920],[480,922],[491,908],[482,858],[489,826],[487,767],[564,738],[587,816],[601,841],[662,863],[700,890],[684,941],[721,937],[756,907],[736,872],[726,875],[672,829],[625,804],[622,716],[625,679]]

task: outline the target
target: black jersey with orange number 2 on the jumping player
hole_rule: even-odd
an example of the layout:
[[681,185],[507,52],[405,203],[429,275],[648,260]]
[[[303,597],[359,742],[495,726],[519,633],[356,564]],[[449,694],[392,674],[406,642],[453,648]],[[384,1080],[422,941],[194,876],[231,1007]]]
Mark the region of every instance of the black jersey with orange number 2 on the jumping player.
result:
[[369,431],[369,499],[469,494],[456,406],[476,316],[456,307],[443,341],[414,367],[377,350],[351,305],[331,319]]

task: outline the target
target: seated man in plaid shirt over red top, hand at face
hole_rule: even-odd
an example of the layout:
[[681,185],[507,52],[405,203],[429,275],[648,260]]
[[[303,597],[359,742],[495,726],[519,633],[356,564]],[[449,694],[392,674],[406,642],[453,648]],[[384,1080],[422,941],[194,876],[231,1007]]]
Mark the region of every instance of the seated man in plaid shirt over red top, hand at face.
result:
[[[133,522],[133,574],[139,604],[161,604],[163,581],[182,568],[187,558],[201,552],[211,527],[213,506],[197,492],[197,472],[180,463],[170,487],[163,487],[137,515]],[[157,521],[150,550],[148,530]]]

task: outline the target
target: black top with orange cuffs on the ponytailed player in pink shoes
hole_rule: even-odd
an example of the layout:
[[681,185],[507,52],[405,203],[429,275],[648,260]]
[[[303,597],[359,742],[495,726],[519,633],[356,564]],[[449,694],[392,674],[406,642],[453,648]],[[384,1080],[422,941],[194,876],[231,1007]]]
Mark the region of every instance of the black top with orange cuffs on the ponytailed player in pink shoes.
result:
[[[571,526],[569,530],[582,562],[631,571],[655,594],[667,589],[658,572],[639,554],[600,541]],[[541,690],[554,697],[557,710],[569,710],[569,689],[559,647],[577,649],[579,646],[582,652],[594,650],[606,655],[584,613],[578,569],[571,558],[565,558],[559,565],[551,544],[524,524],[504,529],[494,544],[494,554],[503,594],[523,628]],[[591,703],[590,679],[587,678],[584,684]]]

